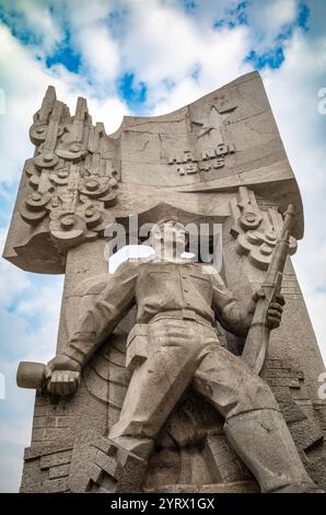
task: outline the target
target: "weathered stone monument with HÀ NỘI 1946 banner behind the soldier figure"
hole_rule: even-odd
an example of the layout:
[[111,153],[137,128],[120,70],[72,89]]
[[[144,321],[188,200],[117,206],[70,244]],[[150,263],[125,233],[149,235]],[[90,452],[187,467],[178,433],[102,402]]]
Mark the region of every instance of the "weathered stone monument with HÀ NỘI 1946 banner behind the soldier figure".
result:
[[[58,352],[107,278],[105,228],[127,227],[130,214],[139,226],[166,216],[221,224],[221,274],[241,302],[264,282],[289,204],[296,209],[290,253],[303,236],[299,188],[256,72],[174,113],[127,116],[110,136],[93,124],[84,99],[71,115],[50,87],[30,136],[35,156],[23,170],[4,258],[26,271],[66,274]],[[306,470],[326,488],[326,408],[317,399],[324,364],[290,258],[282,293],[283,320],[271,333],[263,377]],[[135,322],[132,309],[94,354],[74,396],[37,392],[21,490],[114,491],[119,477],[120,488],[133,491],[141,474],[143,491],[258,491],[226,443],[222,419],[193,391],[168,417],[147,468],[113,447],[98,449],[130,381],[126,342]],[[241,337],[221,327],[217,332],[223,347],[241,354]]]

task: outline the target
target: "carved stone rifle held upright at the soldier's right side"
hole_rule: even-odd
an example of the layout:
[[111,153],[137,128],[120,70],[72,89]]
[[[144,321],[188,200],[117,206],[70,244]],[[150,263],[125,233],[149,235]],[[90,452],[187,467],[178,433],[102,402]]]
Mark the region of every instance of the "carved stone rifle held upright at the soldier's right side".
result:
[[264,366],[270,329],[267,323],[267,313],[270,302],[281,291],[283,271],[289,254],[291,229],[294,219],[294,206],[289,204],[284,215],[281,236],[276,244],[268,266],[266,278],[261,284],[265,294],[256,304],[254,317],[242,353],[243,360],[256,373],[260,374]]

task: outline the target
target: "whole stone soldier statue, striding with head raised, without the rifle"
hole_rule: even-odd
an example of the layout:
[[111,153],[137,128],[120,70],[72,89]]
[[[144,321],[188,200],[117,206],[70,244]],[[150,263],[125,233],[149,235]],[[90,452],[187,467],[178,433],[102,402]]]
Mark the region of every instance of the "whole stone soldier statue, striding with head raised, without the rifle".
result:
[[[147,462],[168,415],[191,387],[223,416],[228,440],[263,492],[318,491],[271,390],[241,357],[221,346],[213,329],[217,318],[245,337],[257,294],[242,306],[218,273],[207,273],[200,263],[178,254],[185,239],[181,224],[162,220],[151,233],[155,254],[125,262],[108,275],[65,352],[48,363],[48,391],[72,393],[82,368],[136,305],[137,324],[127,341],[127,366],[133,371],[120,417],[108,434],[110,445]],[[270,329],[279,325],[283,304],[280,297],[270,304]]]

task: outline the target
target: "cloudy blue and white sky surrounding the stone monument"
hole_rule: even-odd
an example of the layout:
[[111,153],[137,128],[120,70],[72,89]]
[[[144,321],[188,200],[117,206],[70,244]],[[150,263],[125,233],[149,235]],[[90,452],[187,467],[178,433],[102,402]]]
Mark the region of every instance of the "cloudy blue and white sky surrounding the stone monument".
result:
[[[48,84],[71,110],[86,96],[109,134],[125,114],[164,114],[259,70],[303,196],[294,265],[325,357],[325,0],[0,0],[1,241]],[[2,260],[0,281],[0,491],[16,491],[33,407],[16,365],[53,356],[62,277]]]

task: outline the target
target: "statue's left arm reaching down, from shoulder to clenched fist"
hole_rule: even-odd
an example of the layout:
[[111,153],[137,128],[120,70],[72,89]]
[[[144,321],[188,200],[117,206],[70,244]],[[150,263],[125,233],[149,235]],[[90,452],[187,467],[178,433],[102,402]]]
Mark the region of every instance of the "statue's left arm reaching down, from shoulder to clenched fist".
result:
[[107,276],[107,285],[93,306],[81,314],[67,348],[46,367],[50,392],[68,394],[75,390],[81,369],[132,307],[138,270],[139,262],[128,261]]

